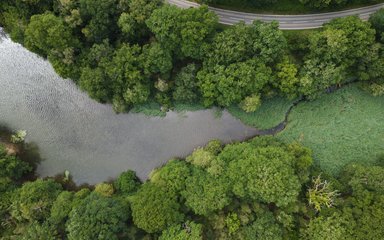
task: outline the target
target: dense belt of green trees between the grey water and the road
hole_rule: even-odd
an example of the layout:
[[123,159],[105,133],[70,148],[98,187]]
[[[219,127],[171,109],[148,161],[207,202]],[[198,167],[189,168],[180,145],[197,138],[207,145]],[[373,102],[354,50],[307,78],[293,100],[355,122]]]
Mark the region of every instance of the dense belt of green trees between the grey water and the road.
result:
[[276,22],[219,30],[206,6],[160,0],[5,0],[0,11],[15,41],[117,112],[149,101],[254,112],[265,97],[314,98],[350,77],[384,93],[383,11],[288,38]]

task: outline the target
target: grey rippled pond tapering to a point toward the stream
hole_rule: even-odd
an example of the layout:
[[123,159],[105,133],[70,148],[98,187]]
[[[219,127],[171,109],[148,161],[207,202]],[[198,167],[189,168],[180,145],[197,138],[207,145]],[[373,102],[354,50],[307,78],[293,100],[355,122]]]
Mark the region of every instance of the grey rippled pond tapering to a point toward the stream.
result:
[[145,179],[211,139],[231,142],[258,133],[226,111],[215,115],[115,114],[60,78],[48,61],[6,37],[0,42],[0,125],[27,131],[26,141],[40,149],[42,177],[68,170],[77,184],[95,184],[132,169]]

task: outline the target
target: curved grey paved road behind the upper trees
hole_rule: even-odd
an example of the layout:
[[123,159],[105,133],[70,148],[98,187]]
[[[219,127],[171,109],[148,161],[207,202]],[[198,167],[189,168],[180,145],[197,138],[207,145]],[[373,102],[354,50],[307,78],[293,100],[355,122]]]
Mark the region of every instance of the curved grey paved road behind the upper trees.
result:
[[[181,8],[198,7],[199,4],[187,0],[166,0],[169,4],[176,5]],[[384,3],[345,10],[340,12],[319,13],[319,14],[306,14],[306,15],[268,15],[268,14],[254,14],[224,10],[214,7],[209,7],[210,10],[215,12],[220,20],[220,23],[233,25],[240,21],[251,23],[254,20],[261,20],[264,22],[278,21],[280,29],[294,30],[294,29],[312,29],[319,28],[324,23],[329,22],[333,18],[346,17],[351,15],[358,15],[361,19],[368,20],[369,15],[376,12],[380,8],[384,8]]]

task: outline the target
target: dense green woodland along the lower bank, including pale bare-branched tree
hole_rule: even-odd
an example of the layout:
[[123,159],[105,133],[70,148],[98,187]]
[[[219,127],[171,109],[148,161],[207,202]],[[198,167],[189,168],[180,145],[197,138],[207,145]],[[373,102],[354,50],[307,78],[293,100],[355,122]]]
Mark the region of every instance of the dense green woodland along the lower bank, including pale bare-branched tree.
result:
[[[1,162],[28,166],[4,151]],[[112,183],[73,191],[53,179],[23,183],[28,169],[11,170],[1,178],[0,237],[380,239],[380,162],[349,165],[336,178],[312,162],[311,151],[297,143],[258,137],[226,146],[211,141],[155,169],[145,183],[127,171]]]

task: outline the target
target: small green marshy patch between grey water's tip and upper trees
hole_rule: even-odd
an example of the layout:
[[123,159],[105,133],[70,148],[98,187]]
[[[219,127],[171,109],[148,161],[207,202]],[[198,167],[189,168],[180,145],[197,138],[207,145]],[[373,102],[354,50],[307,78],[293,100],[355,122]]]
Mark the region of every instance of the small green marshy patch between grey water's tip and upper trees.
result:
[[294,100],[289,101],[285,98],[275,97],[263,100],[261,107],[254,113],[246,113],[237,106],[229,107],[228,111],[243,123],[264,130],[275,127],[284,121],[285,113],[293,102]]

